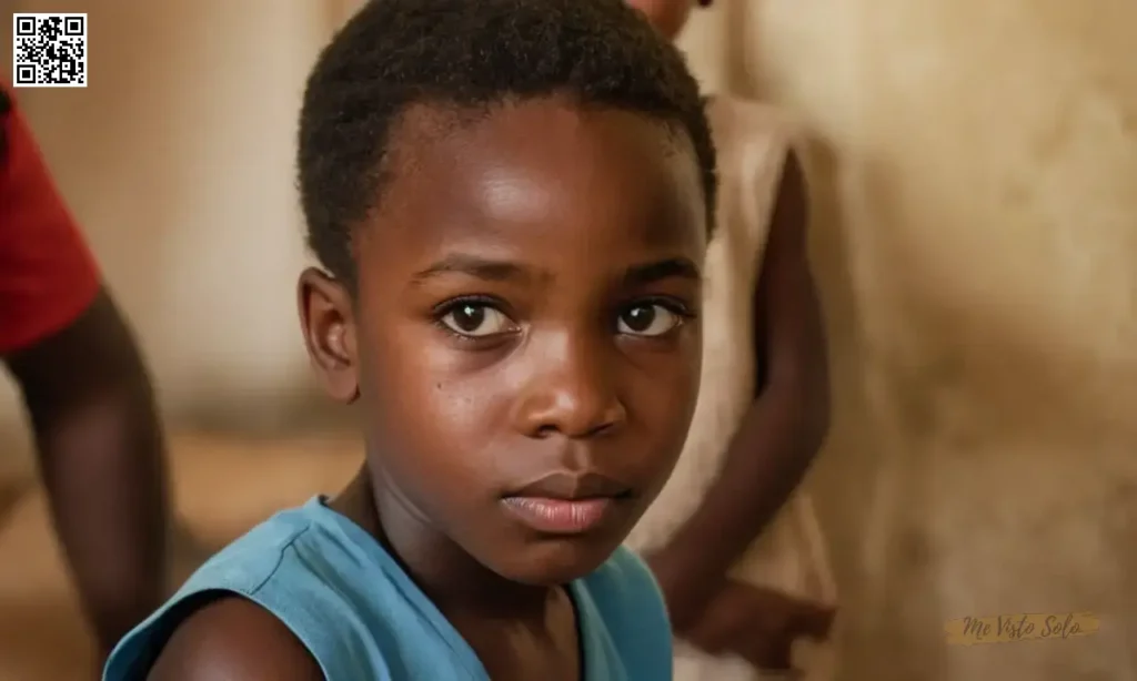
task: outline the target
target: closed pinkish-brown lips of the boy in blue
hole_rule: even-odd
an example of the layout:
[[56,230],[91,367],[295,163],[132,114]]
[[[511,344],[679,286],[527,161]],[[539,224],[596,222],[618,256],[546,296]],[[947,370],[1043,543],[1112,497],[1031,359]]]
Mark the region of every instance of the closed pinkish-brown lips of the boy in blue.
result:
[[538,532],[580,535],[603,524],[631,489],[596,472],[558,471],[501,499],[518,520]]

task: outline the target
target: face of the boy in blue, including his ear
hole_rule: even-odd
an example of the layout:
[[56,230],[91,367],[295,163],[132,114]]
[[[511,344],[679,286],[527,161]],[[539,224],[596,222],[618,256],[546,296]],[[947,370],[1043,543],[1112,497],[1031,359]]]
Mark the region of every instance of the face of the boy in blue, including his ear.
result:
[[705,207],[684,135],[561,99],[395,131],[356,305],[307,272],[325,384],[358,386],[383,528],[514,581],[596,569],[654,499],[699,387]]

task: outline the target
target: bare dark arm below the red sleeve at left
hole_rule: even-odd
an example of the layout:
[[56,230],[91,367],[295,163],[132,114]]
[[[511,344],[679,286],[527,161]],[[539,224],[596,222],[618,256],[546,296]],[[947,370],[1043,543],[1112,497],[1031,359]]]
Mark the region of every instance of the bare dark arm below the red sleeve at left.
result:
[[150,380],[106,292],[69,327],[3,360],[105,657],[163,597],[165,457]]

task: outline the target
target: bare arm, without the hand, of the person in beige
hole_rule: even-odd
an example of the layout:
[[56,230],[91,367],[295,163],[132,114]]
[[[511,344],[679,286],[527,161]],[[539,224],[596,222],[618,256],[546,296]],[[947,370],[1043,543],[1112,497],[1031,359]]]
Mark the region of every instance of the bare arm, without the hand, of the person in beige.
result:
[[803,173],[790,154],[755,294],[757,398],[699,508],[652,556],[679,628],[697,616],[730,566],[773,520],[829,428],[825,338],[808,267],[806,217]]

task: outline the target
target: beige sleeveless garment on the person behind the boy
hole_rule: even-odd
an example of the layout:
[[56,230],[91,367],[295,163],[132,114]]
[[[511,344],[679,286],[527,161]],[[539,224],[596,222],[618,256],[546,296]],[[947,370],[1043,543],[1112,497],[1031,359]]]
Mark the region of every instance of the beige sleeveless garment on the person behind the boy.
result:
[[[775,109],[716,98],[709,110],[719,151],[719,222],[707,247],[703,301],[703,384],[674,473],[629,537],[646,552],[664,545],[696,511],[754,401],[754,292],[781,173],[794,140]],[[836,600],[831,566],[813,504],[796,491],[732,575],[823,603]],[[829,645],[797,661],[807,681],[832,676]],[[738,658],[714,657],[677,641],[675,681],[761,681]]]

